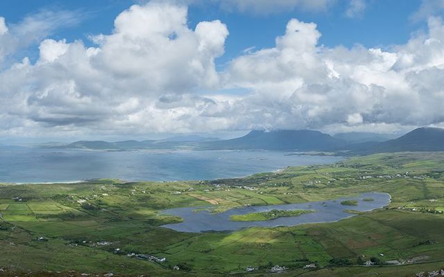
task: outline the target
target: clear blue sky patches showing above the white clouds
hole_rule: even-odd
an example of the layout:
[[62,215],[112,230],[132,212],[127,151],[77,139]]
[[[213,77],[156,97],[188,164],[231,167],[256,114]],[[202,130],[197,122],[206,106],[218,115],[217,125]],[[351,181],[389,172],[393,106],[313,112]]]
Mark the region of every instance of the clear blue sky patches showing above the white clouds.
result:
[[[85,44],[90,44],[88,35],[111,33],[117,15],[131,5],[141,2],[133,0],[5,0],[0,2],[0,15],[6,17],[10,24],[14,24],[40,10],[76,11],[80,20],[76,26],[66,28],[60,26],[49,37],[65,38],[71,42],[83,39]],[[426,28],[425,21],[411,19],[411,16],[420,8],[420,1],[366,1],[366,9],[362,15],[353,18],[345,15],[348,5],[348,1],[340,0],[327,10],[307,11],[296,8],[271,14],[257,14],[224,10],[215,3],[195,3],[189,6],[189,25],[194,28],[200,21],[214,19],[220,19],[227,24],[230,36],[225,43],[225,55],[218,59],[221,66],[241,54],[246,48],[260,49],[274,46],[275,37],[284,33],[283,27],[291,18],[313,21],[318,24],[318,30],[322,33],[319,43],[325,46],[351,47],[354,44],[362,44],[366,47],[386,47],[392,44],[403,44],[407,42],[413,31]],[[31,50],[36,51],[36,48]],[[33,54],[29,53],[29,55]]]

